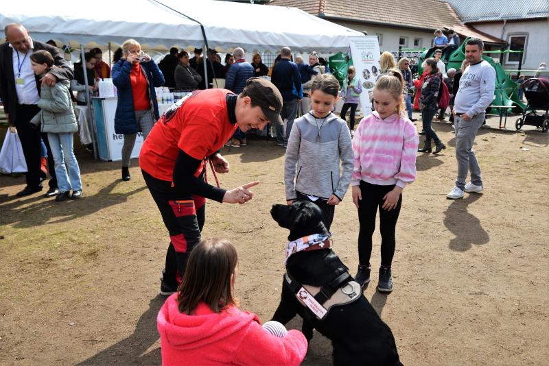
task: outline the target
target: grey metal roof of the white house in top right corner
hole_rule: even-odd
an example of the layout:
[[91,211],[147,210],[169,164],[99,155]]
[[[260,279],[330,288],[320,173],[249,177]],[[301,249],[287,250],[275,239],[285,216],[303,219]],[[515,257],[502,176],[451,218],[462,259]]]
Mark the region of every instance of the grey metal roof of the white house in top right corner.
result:
[[537,19],[549,16],[547,0],[446,0],[465,22]]

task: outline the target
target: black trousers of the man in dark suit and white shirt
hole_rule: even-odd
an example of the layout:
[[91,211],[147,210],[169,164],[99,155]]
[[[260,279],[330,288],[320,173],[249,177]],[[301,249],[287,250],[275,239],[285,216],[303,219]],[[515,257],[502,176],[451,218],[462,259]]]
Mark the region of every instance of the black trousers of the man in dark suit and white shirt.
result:
[[27,186],[34,188],[42,184],[40,181],[40,158],[42,157],[40,138],[42,138],[47,149],[47,169],[51,175],[51,180],[49,180],[48,184],[50,188],[56,188],[57,179],[54,156],[51,155],[47,134],[40,133],[40,127],[30,127],[30,120],[40,112],[40,108],[32,104],[17,104],[16,108],[15,127],[21,140],[23,155],[25,155],[25,162],[27,163],[27,173],[25,174]]

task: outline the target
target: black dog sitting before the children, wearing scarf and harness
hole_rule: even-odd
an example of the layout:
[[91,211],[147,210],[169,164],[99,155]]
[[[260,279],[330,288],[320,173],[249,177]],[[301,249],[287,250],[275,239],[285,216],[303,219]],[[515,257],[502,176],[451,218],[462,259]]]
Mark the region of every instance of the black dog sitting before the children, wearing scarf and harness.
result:
[[[290,230],[289,241],[313,234],[329,234],[322,222],[320,208],[311,202],[273,205],[270,212],[274,221]],[[336,278],[345,278],[349,271],[332,249],[325,248],[290,255],[286,273],[299,284],[324,286]],[[346,282],[351,280],[353,278],[347,276]],[[286,324],[296,314],[304,319],[303,332],[307,340],[312,338],[312,328],[331,340],[334,365],[401,365],[393,333],[362,293],[358,300],[334,306],[319,320],[297,300],[285,279],[281,302],[272,320]]]

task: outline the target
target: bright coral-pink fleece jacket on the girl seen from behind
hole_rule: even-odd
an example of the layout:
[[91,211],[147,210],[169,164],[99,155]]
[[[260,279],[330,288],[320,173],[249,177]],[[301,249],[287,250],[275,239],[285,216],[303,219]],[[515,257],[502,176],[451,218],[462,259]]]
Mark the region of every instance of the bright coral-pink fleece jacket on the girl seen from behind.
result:
[[307,353],[299,330],[275,337],[257,315],[234,306],[214,313],[201,303],[196,314],[182,314],[177,293],[167,298],[156,324],[162,365],[299,365]]

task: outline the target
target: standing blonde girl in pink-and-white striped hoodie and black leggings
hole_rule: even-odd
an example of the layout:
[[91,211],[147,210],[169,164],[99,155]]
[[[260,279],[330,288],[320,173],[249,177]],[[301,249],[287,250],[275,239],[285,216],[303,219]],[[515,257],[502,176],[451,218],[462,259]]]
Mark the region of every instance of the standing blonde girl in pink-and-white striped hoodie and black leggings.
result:
[[358,273],[364,289],[370,282],[370,256],[379,208],[382,263],[377,291],[393,291],[391,263],[402,191],[416,178],[417,130],[404,117],[404,78],[398,69],[379,77],[373,89],[375,111],[360,121],[353,138],[355,156],[351,186],[358,208]]

